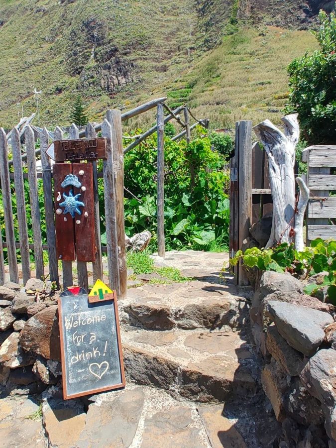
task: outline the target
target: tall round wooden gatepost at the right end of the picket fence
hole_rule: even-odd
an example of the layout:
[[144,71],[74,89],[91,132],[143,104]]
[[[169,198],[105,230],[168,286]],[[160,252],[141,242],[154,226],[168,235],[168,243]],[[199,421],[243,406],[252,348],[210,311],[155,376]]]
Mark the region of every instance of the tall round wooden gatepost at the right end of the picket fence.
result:
[[125,253],[125,218],[123,207],[123,149],[120,111],[117,109],[108,111],[107,120],[111,124],[112,128],[113,165],[115,170],[116,234],[119,251],[118,298],[124,299],[127,295],[127,266]]

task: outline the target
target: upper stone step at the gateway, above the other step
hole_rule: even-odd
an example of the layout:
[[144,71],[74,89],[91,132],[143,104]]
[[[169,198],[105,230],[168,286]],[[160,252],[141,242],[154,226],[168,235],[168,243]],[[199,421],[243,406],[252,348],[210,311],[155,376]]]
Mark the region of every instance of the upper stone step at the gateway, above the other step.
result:
[[224,329],[242,326],[250,288],[236,288],[217,276],[171,285],[129,289],[119,300],[120,321],[148,330]]

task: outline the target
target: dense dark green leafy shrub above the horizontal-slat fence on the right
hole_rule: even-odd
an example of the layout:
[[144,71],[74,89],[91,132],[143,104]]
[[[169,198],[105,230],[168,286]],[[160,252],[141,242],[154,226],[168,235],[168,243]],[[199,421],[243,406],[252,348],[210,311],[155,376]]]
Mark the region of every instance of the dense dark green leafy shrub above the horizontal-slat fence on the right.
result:
[[289,103],[286,113],[298,112],[300,126],[311,144],[336,141],[336,16],[320,12],[316,33],[320,49],[294,59],[288,66]]

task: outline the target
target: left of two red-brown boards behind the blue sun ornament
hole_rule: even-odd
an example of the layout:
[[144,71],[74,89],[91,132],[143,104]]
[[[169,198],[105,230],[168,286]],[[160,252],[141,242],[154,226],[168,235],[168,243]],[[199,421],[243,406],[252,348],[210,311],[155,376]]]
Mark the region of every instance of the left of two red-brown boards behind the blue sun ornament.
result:
[[[74,220],[71,215],[58,214],[57,210],[64,211],[63,207],[59,204],[64,201],[63,193],[67,196],[70,190],[73,188],[71,185],[68,187],[61,187],[65,176],[71,174],[70,163],[55,163],[53,165],[53,177],[54,177],[54,198],[55,198],[55,227],[56,227],[56,252],[57,258],[63,261],[73,261],[76,259],[75,255],[75,231]],[[66,221],[64,221],[66,219]]]

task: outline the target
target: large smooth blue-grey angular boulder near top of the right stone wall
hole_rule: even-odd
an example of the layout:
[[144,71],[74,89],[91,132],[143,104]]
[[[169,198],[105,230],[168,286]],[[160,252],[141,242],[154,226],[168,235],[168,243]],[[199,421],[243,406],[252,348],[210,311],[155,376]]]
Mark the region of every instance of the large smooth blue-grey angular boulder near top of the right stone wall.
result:
[[288,344],[306,356],[316,352],[325,339],[324,328],[334,322],[328,313],[273,300],[267,304],[266,315]]

